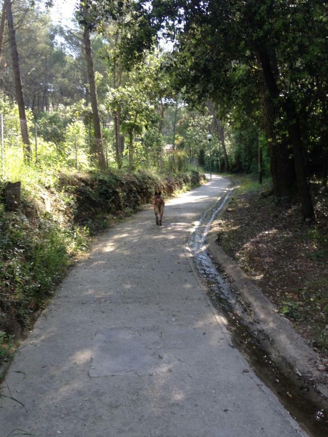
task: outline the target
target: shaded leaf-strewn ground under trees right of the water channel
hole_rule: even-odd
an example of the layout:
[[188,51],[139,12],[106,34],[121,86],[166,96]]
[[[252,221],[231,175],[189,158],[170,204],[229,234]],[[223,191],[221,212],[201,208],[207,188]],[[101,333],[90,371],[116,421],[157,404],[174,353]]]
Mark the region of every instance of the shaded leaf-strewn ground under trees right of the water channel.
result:
[[278,205],[268,185],[237,177],[238,186],[220,221],[218,244],[290,319],[319,353],[317,368],[328,371],[328,202],[312,185],[315,224],[302,219],[299,203]]

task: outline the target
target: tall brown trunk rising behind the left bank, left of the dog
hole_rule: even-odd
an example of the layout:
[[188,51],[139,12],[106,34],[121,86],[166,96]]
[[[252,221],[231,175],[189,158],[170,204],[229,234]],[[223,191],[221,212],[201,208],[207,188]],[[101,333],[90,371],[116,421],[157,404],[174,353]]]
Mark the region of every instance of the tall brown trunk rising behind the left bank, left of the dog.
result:
[[[86,13],[85,15],[87,16]],[[96,89],[96,82],[95,82],[95,73],[93,68],[90,30],[88,29],[87,25],[85,25],[84,27],[83,37],[84,37],[84,43],[86,49],[86,65],[87,65],[88,81],[90,87],[92,118],[93,118],[94,134],[95,134],[95,143],[92,145],[91,153],[96,158],[99,168],[105,169],[106,158],[104,155],[102,128],[100,124],[100,117],[99,117],[99,110],[98,110],[97,89]]]

